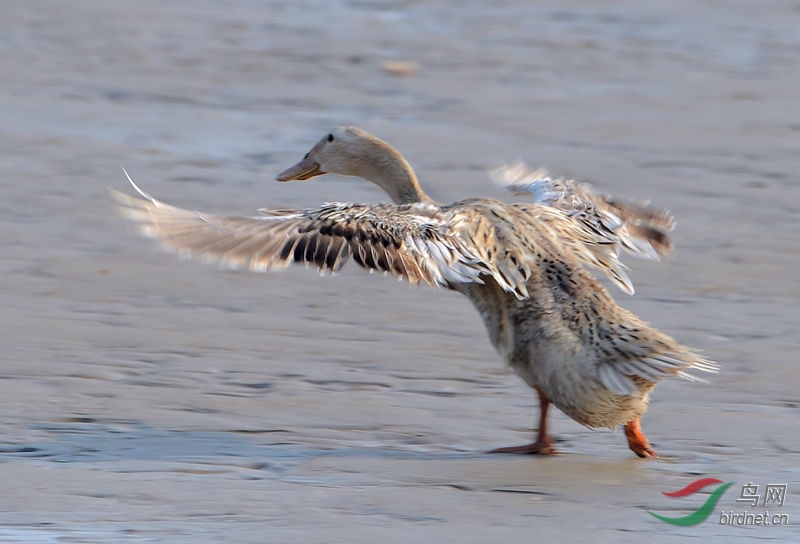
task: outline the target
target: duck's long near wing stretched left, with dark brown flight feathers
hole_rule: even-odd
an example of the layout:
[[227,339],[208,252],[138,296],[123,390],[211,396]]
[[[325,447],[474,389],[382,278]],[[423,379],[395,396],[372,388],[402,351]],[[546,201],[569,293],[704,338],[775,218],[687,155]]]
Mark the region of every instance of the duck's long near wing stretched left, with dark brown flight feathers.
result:
[[459,221],[430,203],[330,203],[303,211],[261,210],[259,217],[219,217],[170,206],[131,185],[140,197],[111,190],[121,213],[182,257],[262,272],[292,263],[336,272],[352,257],[369,270],[433,286],[482,283],[481,275],[497,275],[505,289],[527,296],[524,281],[512,284],[496,274],[480,248],[463,236]]

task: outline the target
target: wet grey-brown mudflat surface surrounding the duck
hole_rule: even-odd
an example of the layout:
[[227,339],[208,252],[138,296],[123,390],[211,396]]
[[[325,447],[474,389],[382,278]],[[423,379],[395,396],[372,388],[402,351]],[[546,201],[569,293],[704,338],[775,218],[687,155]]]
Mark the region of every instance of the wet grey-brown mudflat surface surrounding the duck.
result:
[[[0,541],[797,539],[797,7],[320,4],[4,5]],[[560,413],[562,455],[482,454],[536,411],[466,299],[181,262],[106,192],[123,164],[215,213],[383,200],[273,181],[340,124],[440,201],[524,158],[673,211],[676,255],[615,296],[723,372],[656,390],[662,458]],[[735,482],[702,525],[645,512],[700,477]],[[747,482],[793,526],[720,526]]]

